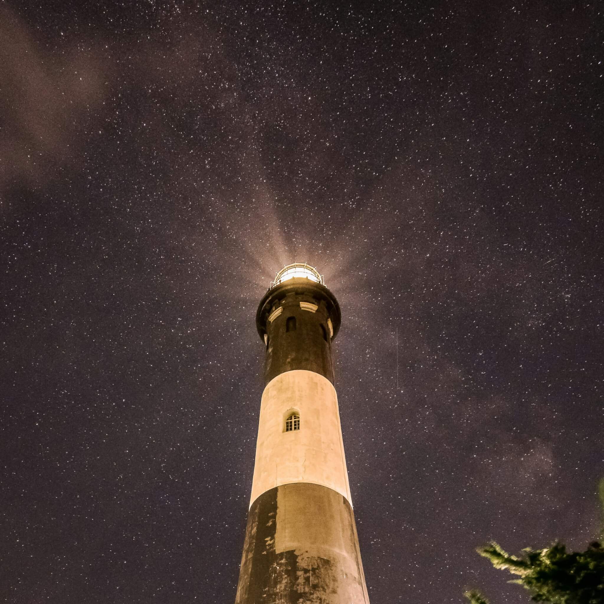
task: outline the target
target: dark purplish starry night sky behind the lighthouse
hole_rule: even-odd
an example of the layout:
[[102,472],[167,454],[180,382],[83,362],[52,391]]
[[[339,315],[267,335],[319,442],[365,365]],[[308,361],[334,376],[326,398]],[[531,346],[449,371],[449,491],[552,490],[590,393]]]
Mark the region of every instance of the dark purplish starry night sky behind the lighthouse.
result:
[[308,262],[373,604],[597,535],[602,5],[0,5],[0,598],[234,602]]

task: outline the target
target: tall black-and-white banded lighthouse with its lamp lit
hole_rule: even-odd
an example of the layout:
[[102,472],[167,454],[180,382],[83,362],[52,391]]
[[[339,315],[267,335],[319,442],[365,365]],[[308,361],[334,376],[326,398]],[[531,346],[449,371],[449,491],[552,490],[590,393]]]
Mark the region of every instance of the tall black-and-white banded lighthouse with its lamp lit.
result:
[[236,604],[369,602],[333,387],[340,320],[305,264],[260,301],[265,390]]

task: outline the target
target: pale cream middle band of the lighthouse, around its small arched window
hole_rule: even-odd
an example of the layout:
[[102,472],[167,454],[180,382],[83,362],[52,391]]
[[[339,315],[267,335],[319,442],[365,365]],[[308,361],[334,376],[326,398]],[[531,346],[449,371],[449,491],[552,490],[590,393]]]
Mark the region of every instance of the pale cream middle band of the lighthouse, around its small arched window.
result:
[[[300,429],[286,432],[292,411],[300,414]],[[321,484],[352,504],[338,396],[314,371],[281,373],[262,394],[250,506],[266,490],[288,483]]]

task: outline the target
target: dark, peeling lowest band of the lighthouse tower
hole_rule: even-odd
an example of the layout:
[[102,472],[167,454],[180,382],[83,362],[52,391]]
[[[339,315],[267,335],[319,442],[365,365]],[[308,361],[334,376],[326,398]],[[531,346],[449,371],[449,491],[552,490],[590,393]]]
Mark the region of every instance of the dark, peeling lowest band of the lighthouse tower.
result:
[[236,604],[368,604],[349,502],[318,484],[263,493],[248,515]]

